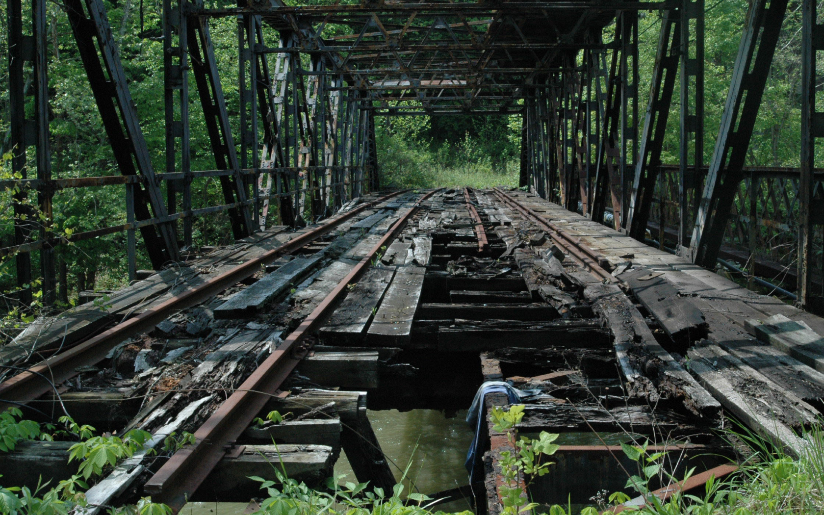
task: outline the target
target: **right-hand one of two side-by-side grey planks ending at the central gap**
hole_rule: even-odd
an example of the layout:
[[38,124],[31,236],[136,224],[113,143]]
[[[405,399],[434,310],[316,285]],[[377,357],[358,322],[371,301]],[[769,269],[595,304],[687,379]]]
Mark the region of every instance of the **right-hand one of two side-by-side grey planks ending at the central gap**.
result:
[[420,301],[426,269],[405,266],[397,269],[367,332],[370,345],[409,344],[412,320]]

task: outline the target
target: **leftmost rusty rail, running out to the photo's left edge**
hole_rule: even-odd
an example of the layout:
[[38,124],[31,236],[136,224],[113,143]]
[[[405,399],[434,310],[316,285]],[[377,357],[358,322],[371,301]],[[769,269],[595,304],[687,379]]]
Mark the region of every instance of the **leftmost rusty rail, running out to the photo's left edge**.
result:
[[[9,378],[0,384],[0,408],[5,407],[7,404],[5,401],[7,400],[26,402],[52,391],[54,385],[59,385],[61,382],[76,376],[78,373],[77,367],[99,362],[105,358],[105,355],[109,353],[110,349],[113,349],[115,345],[125,339],[133,335],[138,335],[146,330],[151,330],[152,327],[166,320],[166,318],[174,312],[196,306],[200,302],[204,302],[208,297],[212,297],[224,289],[239,283],[243,279],[251,277],[255,272],[260,270],[261,265],[275,260],[280,255],[288,254],[303,246],[307,246],[312,241],[324,236],[364,209],[391,199],[403,193],[403,191],[404,190],[396,191],[379,199],[372,200],[371,202],[363,203],[357,208],[353,208],[342,215],[330,219],[321,225],[321,227],[316,227],[309,232],[304,232],[293,240],[269,250],[264,255],[248,260],[246,263],[238,265],[234,269],[227,270],[194,288],[185,290],[185,292],[171,297],[166,302],[162,302],[152,309],[143,311],[143,313],[133,316],[133,318],[121,322],[109,330],[105,330],[100,335],[87,339],[72,349],[52,356],[26,372],[21,372]],[[50,382],[45,380],[46,377],[49,378]]]

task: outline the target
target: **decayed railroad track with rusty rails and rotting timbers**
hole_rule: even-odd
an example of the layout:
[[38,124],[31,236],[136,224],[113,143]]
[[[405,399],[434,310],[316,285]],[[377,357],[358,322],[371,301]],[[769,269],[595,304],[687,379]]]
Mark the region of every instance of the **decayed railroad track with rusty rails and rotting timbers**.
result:
[[[129,367],[157,353],[152,349],[171,354],[169,339],[161,345],[157,338],[134,336],[157,331],[173,311],[182,314],[174,319],[179,334],[205,313],[212,332],[204,337],[204,350],[199,344],[182,347],[177,356],[188,356],[182,362],[170,358],[163,365],[155,358],[157,368],[133,374],[133,396],[143,400],[125,426],[158,434],[190,430],[194,444],[157,461],[159,468],[134,461],[90,490],[96,503],[113,503],[129,491],[179,510],[193,496],[209,494],[199,487],[213,488],[213,471],[244,452],[252,419],[266,406],[291,410],[301,403],[311,413],[335,406],[331,414],[317,415],[339,420],[341,443],[324,447],[330,449],[325,456],[342,445],[349,461],[358,461],[358,481],[391,488],[394,477],[366,418],[366,396],[312,390],[342,386],[352,377],[357,385],[348,387],[368,391],[370,409],[399,410],[466,408],[479,377],[508,379],[555,398],[527,403],[523,430],[631,428],[656,440],[662,433],[690,438],[679,452],[706,453],[721,406],[705,389],[705,377],[699,383],[667,352],[707,335],[703,319],[687,316],[685,298],[661,295],[666,284],[639,283],[643,267],[614,277],[616,260],[569,232],[568,223],[553,221],[541,202],[517,191],[469,188],[374,199],[18,374],[0,385],[0,399],[48,402],[43,395],[52,385],[90,392],[98,385],[123,386],[117,377],[105,377],[105,368],[117,368],[116,358],[94,377],[88,367],[115,347],[134,347],[129,352],[138,355],[130,355]],[[260,267],[269,263],[271,271],[261,275]],[[656,279],[650,275],[640,279]],[[265,298],[255,297],[259,293]],[[677,322],[694,325],[679,332],[648,303],[650,296],[681,302],[683,320]],[[288,305],[274,302],[283,298]],[[250,309],[250,302],[257,307]],[[344,370],[311,372],[311,363],[316,367],[345,353],[350,361]],[[85,368],[78,369],[81,364]],[[808,378],[815,381],[812,374]],[[824,379],[820,386],[824,392]],[[486,398],[487,409],[508,403],[506,396]],[[348,414],[335,414],[337,409]],[[511,451],[507,438],[490,437],[486,426],[478,430],[493,461]],[[603,451],[583,447],[562,452]],[[485,473],[477,468],[484,452],[474,475]],[[477,499],[494,501],[484,484],[494,485],[495,478],[475,476],[470,486]],[[579,486],[574,489],[586,491]],[[225,491],[215,495],[213,500],[227,500],[220,497]],[[496,509],[492,501],[490,513]]]

